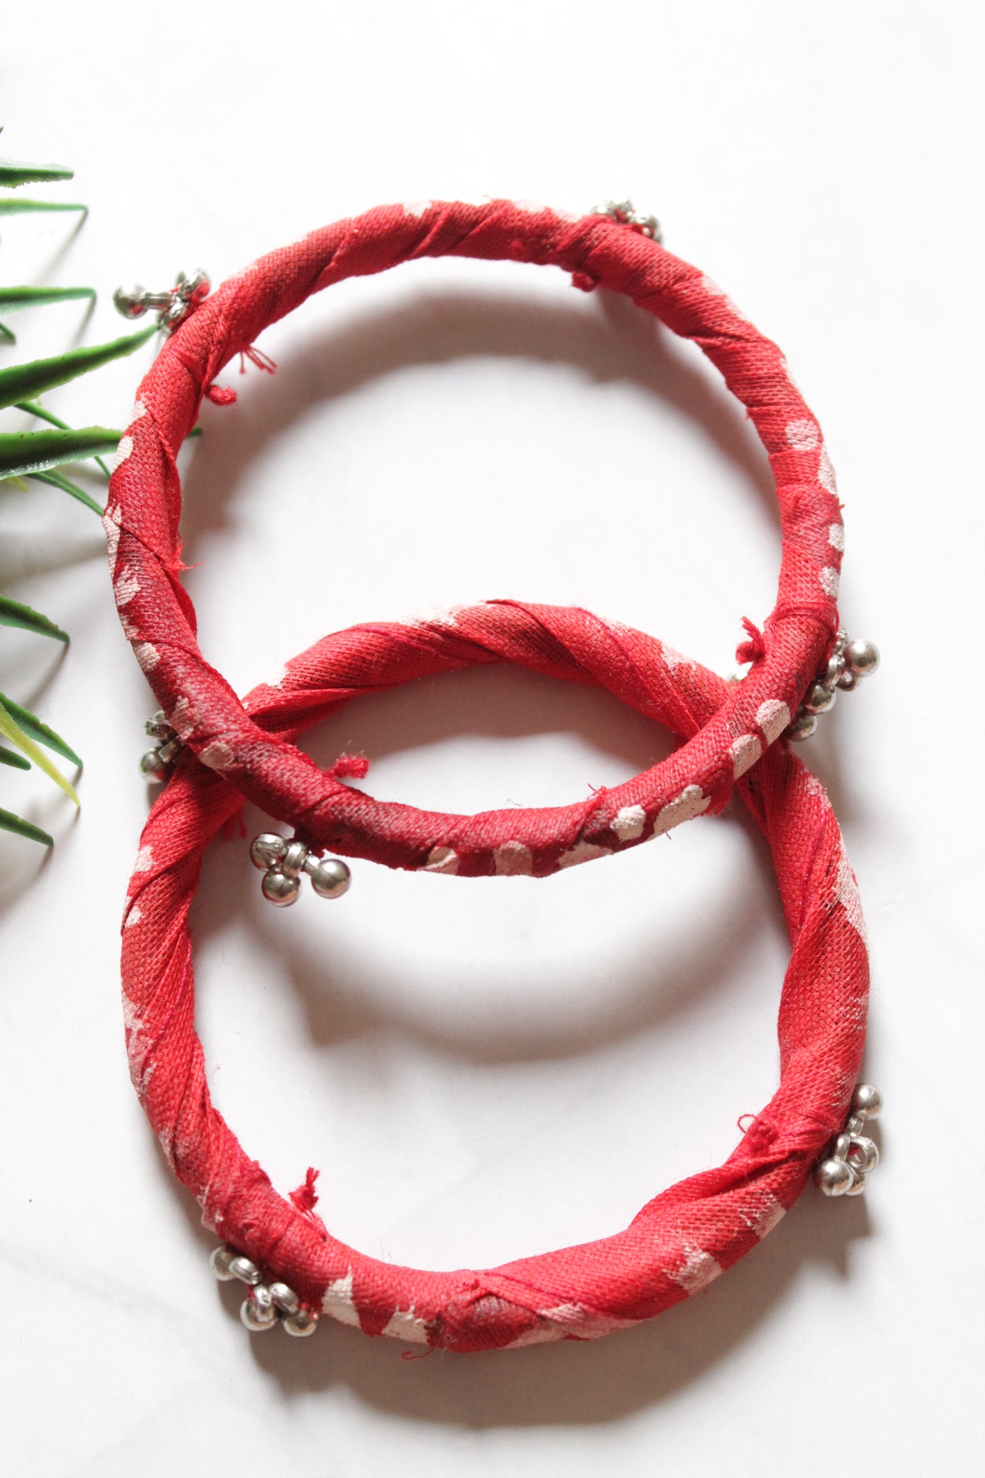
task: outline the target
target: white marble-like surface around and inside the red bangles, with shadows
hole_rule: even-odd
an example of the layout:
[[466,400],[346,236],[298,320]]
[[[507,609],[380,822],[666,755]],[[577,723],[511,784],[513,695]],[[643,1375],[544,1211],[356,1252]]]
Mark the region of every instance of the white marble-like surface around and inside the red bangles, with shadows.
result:
[[[970,4],[7,6],[3,152],[90,217],[3,222],[3,281],[100,299],[25,353],[121,331],[112,288],[214,281],[365,207],[632,195],[783,346],[845,500],[842,613],[883,650],[803,754],[870,925],[865,1203],[809,1190],[704,1295],[597,1344],[411,1361],[326,1323],[250,1339],[127,1077],[118,919],[154,706],[96,519],[0,488],[0,585],[72,633],[0,631],[0,687],[86,758],[1,803],[4,1468],[873,1475],[981,1453],[982,25]],[[242,690],[326,630],[518,596],[619,616],[728,671],[774,602],[763,457],[700,355],[512,265],[332,288],[261,338],[186,463],[188,576]],[[3,362],[13,353],[0,350]],[[47,398],[124,424],[151,347]],[[4,429],[18,420],[4,414]],[[365,701],[312,738],[443,810],[576,800],[667,752],[604,695],[507,670]],[[248,817],[260,829],[261,817]],[[341,1237],[483,1265],[625,1225],[716,1163],[777,1075],[786,937],[741,816],[546,881],[356,863],[344,902],[260,899],[213,847],[195,910],[214,1095]],[[978,1414],[976,1414],[978,1413]]]

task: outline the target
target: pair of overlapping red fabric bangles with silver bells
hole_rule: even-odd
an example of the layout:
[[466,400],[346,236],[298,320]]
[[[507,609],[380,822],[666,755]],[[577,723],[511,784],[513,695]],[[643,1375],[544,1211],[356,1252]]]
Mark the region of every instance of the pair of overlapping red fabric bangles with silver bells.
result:
[[[628,296],[697,343],[743,402],[769,455],[783,562],[775,609],[749,627],[741,680],[725,681],[654,637],[580,607],[492,600],[323,637],[275,683],[239,699],[208,665],[182,585],[177,451],[216,377],[312,293],[416,257],[551,265],[576,287]],[[242,1281],[250,1330],[310,1335],[331,1315],[371,1335],[458,1351],[591,1339],[647,1320],[706,1287],[758,1244],[815,1174],[858,1194],[877,1148],[876,1089],[858,1085],[868,956],[855,876],[814,774],[790,749],[839,689],[871,672],[836,606],[843,551],[834,473],[783,355],[696,268],[660,244],[628,202],[572,216],[515,201],[421,201],[371,210],[263,257],[216,293],[202,273],[165,294],[118,294],[128,315],[161,313],[167,337],[120,442],[105,529],[124,633],[157,696],[167,774],[148,817],[123,919],[130,1072],[168,1163],[220,1239],[219,1278]],[[439,814],[378,801],[295,746],[360,693],[473,665],[514,662],[608,689],[679,738],[665,761],[572,806]],[[205,847],[253,801],[291,837],[251,845],[263,891],[292,903],[303,879],[337,897],[347,865],[456,876],[546,876],[721,811],[738,789],[775,862],[792,955],[780,1001],[780,1085],[724,1165],[662,1191],[623,1231],[487,1270],[394,1267],[338,1242],[316,1212],[316,1172],[279,1194],[211,1103],[195,1033],[189,907]]]

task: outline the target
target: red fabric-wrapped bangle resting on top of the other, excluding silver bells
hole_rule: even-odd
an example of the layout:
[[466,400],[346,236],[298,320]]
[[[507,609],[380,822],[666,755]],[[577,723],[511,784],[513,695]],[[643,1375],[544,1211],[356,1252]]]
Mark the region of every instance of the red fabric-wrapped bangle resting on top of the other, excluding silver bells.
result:
[[[676,754],[573,806],[443,816],[354,792],[266,733],[195,640],[195,612],[180,584],[174,458],[202,395],[223,365],[309,294],[422,256],[551,263],[580,287],[626,294],[704,350],[769,454],[783,562],[761,658],[743,683],[721,690],[718,708]],[[837,630],[843,531],[834,476],[780,350],[701,272],[607,216],[572,219],[512,201],[424,202],[316,231],[230,278],[176,330],[140,386],[118,457],[105,517],[117,606],[168,723],[205,766],[312,845],[391,868],[495,873],[504,848],[524,848],[527,871],[539,876],[721,810],[734,779],[786,729]],[[449,631],[471,641],[467,622],[462,612],[447,616]]]

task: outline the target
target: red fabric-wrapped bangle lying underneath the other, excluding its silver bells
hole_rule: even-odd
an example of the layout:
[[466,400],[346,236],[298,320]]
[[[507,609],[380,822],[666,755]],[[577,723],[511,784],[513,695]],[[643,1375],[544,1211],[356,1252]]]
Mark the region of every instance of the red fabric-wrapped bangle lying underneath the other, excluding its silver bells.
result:
[[[685,739],[728,696],[713,672],[628,627],[577,609],[493,603],[459,612],[456,627],[387,622],[329,636],[288,665],[278,689],[254,689],[245,708],[282,748],[356,693],[501,661],[605,686]],[[724,1165],[656,1196],[625,1231],[487,1271],[422,1273],[337,1242],[313,1210],[313,1172],[292,1199],[279,1196],[211,1104],[188,915],[204,848],[244,798],[185,757],[143,831],[123,989],[134,1086],[205,1225],[309,1310],[459,1351],[604,1335],[679,1302],[756,1246],[843,1125],[865,1036],[868,958],[820,782],[784,743],[738,789],[772,848],[792,940],[775,1095]]]

